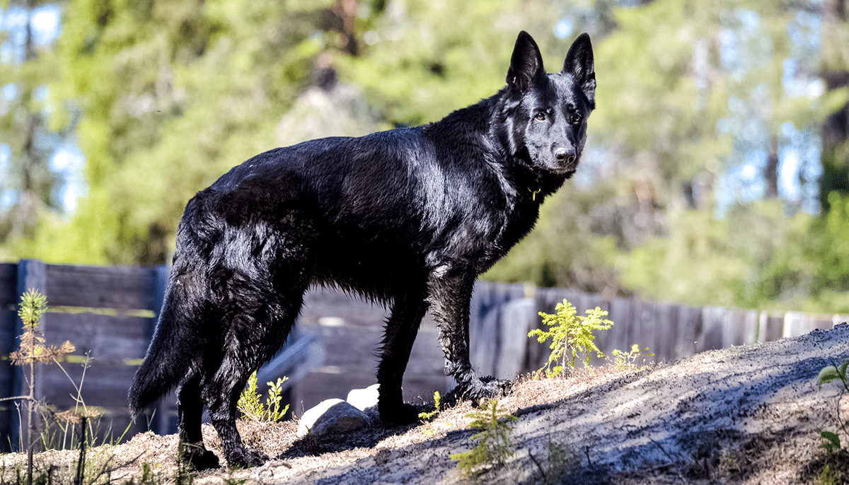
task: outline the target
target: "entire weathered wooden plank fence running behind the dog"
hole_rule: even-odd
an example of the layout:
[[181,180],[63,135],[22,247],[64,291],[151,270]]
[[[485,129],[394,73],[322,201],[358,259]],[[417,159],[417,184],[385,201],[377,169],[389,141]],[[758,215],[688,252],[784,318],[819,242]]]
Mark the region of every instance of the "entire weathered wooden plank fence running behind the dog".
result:
[[[116,435],[130,424],[127,388],[153,334],[167,280],[167,268],[46,265],[22,260],[0,264],[0,398],[25,393],[20,367],[8,356],[18,346],[20,295],[37,289],[47,296],[50,310],[41,331],[48,344],[70,340],[76,355],[88,355],[85,370],[76,359],[63,363],[71,380],[82,382],[82,398],[104,412],[103,429]],[[542,325],[539,311],[554,313],[568,299],[579,312],[596,306],[616,322],[596,342],[605,353],[633,343],[649,347],[654,360],[674,360],[702,350],[801,335],[844,321],[836,315],[788,313],[772,315],[755,310],[692,308],[629,299],[605,300],[599,295],[529,285],[478,282],[470,311],[472,363],[481,375],[509,378],[532,371],[548,358],[548,346],[527,337]],[[322,399],[345,398],[354,387],[374,383],[376,349],[385,309],[344,293],[315,289],[307,293],[299,332],[288,347],[261,371],[260,382],[290,376],[290,397],[296,414]],[[436,326],[426,317],[405,374],[405,399],[426,399],[453,382],[442,374],[443,357]],[[36,394],[59,410],[75,405],[76,390],[56,365],[38,365]],[[174,432],[173,396],[160,400],[155,420],[139,420],[127,432],[148,429]],[[18,443],[19,414],[14,404],[0,402],[0,447]]]

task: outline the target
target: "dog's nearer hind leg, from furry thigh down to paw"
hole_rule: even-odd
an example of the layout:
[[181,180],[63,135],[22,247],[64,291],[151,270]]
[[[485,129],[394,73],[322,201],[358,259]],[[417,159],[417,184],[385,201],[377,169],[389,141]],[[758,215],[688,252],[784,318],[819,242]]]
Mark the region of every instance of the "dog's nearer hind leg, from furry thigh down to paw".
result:
[[202,396],[230,466],[268,460],[242,443],[236,406],[250,373],[283,347],[310,283],[316,231],[298,187],[293,174],[254,177],[216,205],[223,231],[211,292],[222,354],[205,371]]

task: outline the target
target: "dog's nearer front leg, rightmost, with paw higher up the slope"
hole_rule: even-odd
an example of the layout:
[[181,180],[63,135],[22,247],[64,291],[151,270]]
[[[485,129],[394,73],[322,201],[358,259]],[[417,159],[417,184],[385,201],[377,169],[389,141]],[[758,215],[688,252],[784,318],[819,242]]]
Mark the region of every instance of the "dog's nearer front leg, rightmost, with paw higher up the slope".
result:
[[457,274],[430,279],[430,313],[439,328],[445,354],[445,375],[457,381],[458,395],[481,405],[509,389],[509,382],[492,377],[481,380],[469,361],[469,304],[475,276]]

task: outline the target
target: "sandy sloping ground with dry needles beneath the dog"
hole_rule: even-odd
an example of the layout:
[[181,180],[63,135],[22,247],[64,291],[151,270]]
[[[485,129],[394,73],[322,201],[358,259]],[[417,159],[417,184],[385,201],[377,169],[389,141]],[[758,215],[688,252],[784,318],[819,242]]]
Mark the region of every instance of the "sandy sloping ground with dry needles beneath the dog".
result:
[[[525,379],[499,407],[519,416],[516,451],[483,483],[812,483],[821,468],[820,431],[849,419],[849,396],[818,387],[818,371],[849,359],[849,325],[756,346],[727,348],[635,370],[612,367],[555,380]],[[432,405],[432,404],[431,404]],[[424,409],[423,405],[423,409]],[[434,421],[373,426],[323,441],[295,439],[295,422],[240,422],[246,443],[275,457],[259,468],[206,471],[197,484],[449,484],[472,482],[450,454],[473,446],[467,403]],[[215,432],[207,446],[219,453]],[[844,448],[849,436],[841,433]],[[551,444],[565,455],[548,460]],[[177,438],[139,434],[93,449],[88,466],[113,482],[173,482]],[[3,455],[3,473],[20,461]],[[73,466],[74,452],[39,454],[38,465]],[[849,477],[849,454],[843,455]],[[57,469],[59,470],[59,469]],[[59,471],[57,471],[59,473]],[[0,476],[0,482],[9,477]],[[63,482],[57,480],[57,482]]]

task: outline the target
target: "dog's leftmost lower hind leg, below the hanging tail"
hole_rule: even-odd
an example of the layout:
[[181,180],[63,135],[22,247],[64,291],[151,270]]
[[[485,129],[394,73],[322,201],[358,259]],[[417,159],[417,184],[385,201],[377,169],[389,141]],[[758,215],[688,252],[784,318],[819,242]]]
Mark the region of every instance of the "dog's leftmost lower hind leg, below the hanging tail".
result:
[[218,467],[218,457],[204,446],[200,433],[203,403],[200,400],[200,376],[195,375],[177,388],[177,428],[183,446],[182,458],[195,470]]

